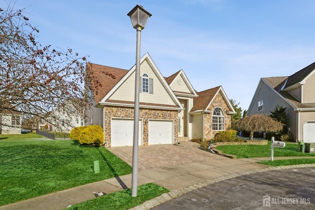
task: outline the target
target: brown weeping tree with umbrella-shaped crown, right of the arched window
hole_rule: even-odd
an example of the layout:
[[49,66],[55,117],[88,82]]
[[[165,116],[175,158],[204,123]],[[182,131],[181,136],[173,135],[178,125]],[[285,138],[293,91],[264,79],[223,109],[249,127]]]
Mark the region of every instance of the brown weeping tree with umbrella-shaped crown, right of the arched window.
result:
[[246,116],[237,122],[237,126],[250,132],[250,140],[253,140],[254,132],[278,132],[283,128],[281,122],[264,114]]

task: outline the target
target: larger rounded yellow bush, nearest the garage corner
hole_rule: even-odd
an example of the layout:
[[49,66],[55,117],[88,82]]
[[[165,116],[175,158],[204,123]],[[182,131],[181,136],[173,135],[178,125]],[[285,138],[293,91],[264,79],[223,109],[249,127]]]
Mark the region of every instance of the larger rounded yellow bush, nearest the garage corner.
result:
[[90,125],[81,131],[78,139],[80,144],[101,146],[104,141],[103,128],[99,125]]

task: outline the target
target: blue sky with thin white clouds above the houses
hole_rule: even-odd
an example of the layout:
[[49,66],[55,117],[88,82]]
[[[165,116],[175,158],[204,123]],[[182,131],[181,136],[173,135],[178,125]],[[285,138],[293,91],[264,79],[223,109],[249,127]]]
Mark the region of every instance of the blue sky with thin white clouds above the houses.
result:
[[315,61],[314,0],[16,0],[14,8],[26,8],[40,43],[130,69],[136,30],[126,14],[136,4],[152,14],[141,56],[148,52],[166,77],[183,69],[197,91],[221,85],[243,110],[261,77]]

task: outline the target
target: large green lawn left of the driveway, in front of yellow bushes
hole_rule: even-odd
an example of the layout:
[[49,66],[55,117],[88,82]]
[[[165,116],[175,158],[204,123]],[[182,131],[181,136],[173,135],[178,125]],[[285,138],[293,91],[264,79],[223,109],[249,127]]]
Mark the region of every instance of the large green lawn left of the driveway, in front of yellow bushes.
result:
[[[98,174],[93,172],[95,160]],[[131,172],[105,148],[35,133],[0,135],[0,206]]]

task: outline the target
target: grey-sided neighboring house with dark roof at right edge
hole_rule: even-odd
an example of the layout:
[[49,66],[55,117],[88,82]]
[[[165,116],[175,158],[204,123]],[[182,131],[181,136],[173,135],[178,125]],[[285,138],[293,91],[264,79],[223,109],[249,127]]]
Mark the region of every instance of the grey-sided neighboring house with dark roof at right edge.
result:
[[287,108],[287,127],[296,142],[315,142],[315,63],[289,77],[261,78],[247,115],[270,115],[276,105]]

